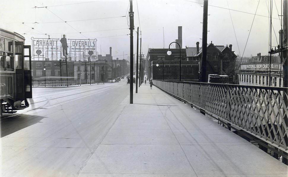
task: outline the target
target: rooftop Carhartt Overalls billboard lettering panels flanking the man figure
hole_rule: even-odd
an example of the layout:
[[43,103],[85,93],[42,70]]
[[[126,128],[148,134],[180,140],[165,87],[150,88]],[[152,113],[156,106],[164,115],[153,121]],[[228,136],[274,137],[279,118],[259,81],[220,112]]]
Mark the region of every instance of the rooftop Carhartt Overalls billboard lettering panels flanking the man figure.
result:
[[[65,59],[60,39],[31,38],[32,58],[34,60],[59,60]],[[67,39],[67,59],[71,61],[87,61],[97,59],[97,39]]]

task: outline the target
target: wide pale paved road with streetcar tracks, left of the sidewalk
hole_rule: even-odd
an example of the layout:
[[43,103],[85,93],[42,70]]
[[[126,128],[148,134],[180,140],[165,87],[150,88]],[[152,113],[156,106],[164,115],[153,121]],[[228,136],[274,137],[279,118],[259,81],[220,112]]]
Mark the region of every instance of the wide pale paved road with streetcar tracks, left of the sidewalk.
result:
[[123,109],[129,85],[33,93],[28,109],[1,117],[1,176],[77,176]]

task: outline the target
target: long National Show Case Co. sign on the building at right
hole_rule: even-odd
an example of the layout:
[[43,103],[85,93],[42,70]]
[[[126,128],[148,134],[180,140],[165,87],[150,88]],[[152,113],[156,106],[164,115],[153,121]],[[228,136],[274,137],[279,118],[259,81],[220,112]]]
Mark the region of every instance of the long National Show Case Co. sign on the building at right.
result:
[[[259,64],[241,64],[241,70],[249,71],[267,71],[270,70],[270,64],[259,63]],[[283,69],[283,67],[282,67]],[[271,71],[280,71],[280,63],[271,63]]]

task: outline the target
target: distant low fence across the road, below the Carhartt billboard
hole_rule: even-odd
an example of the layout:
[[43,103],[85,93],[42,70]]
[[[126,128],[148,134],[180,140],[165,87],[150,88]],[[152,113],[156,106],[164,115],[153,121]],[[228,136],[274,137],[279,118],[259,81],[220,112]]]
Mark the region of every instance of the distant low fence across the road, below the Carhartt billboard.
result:
[[[97,81],[91,81],[91,84],[96,84]],[[90,84],[90,80],[81,79],[81,84]],[[65,86],[67,85],[67,80],[33,80],[32,86],[39,87],[39,86],[48,86],[48,87],[56,87],[56,86]],[[80,85],[80,79],[77,80],[68,80],[68,85]]]

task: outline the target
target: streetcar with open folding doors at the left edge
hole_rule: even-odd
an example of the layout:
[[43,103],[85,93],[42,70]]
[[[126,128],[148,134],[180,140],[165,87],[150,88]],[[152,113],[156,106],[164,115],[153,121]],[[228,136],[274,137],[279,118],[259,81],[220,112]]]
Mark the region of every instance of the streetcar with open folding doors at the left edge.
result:
[[25,38],[0,28],[0,114],[29,106],[32,98],[31,46]]

